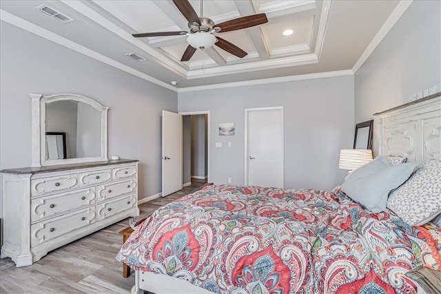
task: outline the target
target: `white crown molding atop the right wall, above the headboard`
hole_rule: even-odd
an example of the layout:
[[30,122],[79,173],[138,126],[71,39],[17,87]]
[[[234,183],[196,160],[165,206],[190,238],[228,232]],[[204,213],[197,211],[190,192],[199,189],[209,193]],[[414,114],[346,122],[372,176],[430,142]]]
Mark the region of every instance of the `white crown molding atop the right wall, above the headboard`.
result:
[[387,35],[387,33],[393,28],[393,25],[395,25],[402,17],[402,14],[406,12],[407,8],[411,5],[413,0],[401,0],[396,8],[393,10],[393,12],[389,15],[387,20],[383,23],[380,30],[378,30],[377,34],[373,37],[371,43],[367,46],[365,51],[361,54],[358,61],[353,65],[352,71],[356,73],[358,70],[360,70],[360,67],[367,61],[369,56],[373,53],[373,50],[377,48],[378,45],[380,45],[381,41],[384,39],[384,37]]

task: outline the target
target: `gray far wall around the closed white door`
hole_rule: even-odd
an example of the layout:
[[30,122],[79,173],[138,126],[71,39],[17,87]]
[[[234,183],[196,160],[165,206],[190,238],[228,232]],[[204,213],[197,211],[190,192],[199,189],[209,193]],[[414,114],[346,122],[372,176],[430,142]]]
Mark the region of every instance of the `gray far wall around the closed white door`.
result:
[[[182,92],[178,104],[180,112],[210,112],[211,182],[245,182],[245,108],[252,107],[285,107],[285,187],[331,189],[347,174],[338,156],[353,144],[353,76]],[[219,123],[235,123],[236,134],[218,136]]]

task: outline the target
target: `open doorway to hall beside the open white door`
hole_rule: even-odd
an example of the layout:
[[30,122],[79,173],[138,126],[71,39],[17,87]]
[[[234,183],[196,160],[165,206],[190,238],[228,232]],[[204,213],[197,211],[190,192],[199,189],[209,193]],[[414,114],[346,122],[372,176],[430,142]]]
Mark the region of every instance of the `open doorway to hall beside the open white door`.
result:
[[183,187],[209,181],[209,112],[183,115]]

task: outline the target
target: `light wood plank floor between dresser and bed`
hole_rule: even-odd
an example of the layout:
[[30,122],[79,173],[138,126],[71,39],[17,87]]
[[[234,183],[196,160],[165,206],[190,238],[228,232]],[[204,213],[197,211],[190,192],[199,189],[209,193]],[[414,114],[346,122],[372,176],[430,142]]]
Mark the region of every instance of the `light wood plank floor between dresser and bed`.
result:
[[[205,185],[192,180],[192,185],[164,198],[139,205],[145,218],[159,207]],[[123,277],[121,262],[115,260],[121,248],[118,232],[128,227],[128,219],[118,222],[51,251],[31,266],[17,268],[10,260],[0,260],[0,293],[130,293],[134,274]]]

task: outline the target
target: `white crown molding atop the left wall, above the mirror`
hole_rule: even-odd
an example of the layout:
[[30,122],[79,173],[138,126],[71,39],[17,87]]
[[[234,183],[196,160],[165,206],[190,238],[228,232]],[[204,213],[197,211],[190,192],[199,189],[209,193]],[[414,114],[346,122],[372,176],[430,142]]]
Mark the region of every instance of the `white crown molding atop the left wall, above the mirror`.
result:
[[29,21],[25,21],[24,19],[16,17],[14,14],[10,14],[9,12],[6,12],[5,10],[0,9],[0,20],[5,21],[7,23],[10,23],[11,25],[16,26],[17,28],[21,28],[23,30],[31,32],[32,34],[36,34],[37,36],[41,36],[44,39],[47,39],[49,41],[52,41],[52,42],[57,43],[59,45],[62,45],[65,48],[69,48],[69,49],[72,49],[76,52],[79,52],[85,56],[89,56],[92,59],[96,59],[97,61],[101,61],[102,63],[105,63],[105,64],[110,65],[112,67],[116,67],[119,70],[123,70],[124,72],[127,72],[129,74],[133,74],[134,76],[138,76],[139,78],[142,78],[145,81],[149,81],[149,82],[154,83],[156,85],[159,85],[161,87],[165,87],[168,90],[172,90],[175,92],[178,91],[177,87],[173,87],[172,85],[164,83],[163,81],[159,81],[157,78],[149,76],[148,74],[144,74],[143,72],[139,72],[139,70],[134,70],[134,68],[132,68],[132,67],[124,65],[123,63],[115,61],[114,59],[110,59],[109,57],[104,56],[103,54],[100,54],[94,50],[91,50],[89,48],[85,48],[83,45],[80,45],[79,43],[75,43],[74,41],[70,41],[69,39],[66,39],[63,36],[60,36],[59,34],[55,34],[54,32],[50,32],[49,30],[41,28],[38,25],[34,25],[33,23],[30,23]]

